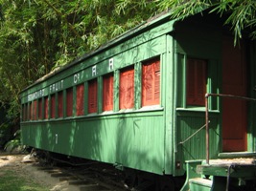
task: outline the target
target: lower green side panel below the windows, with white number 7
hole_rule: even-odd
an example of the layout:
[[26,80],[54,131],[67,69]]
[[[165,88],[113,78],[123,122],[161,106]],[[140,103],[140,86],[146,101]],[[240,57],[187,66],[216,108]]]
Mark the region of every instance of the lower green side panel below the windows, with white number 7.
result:
[[22,124],[23,142],[43,150],[162,174],[163,112]]

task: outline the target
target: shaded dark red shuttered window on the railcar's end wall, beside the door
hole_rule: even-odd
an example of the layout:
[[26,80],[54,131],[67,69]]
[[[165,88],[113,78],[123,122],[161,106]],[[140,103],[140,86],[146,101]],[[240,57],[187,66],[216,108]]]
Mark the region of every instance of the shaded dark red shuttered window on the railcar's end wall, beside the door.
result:
[[206,61],[189,58],[187,61],[187,105],[204,106],[206,93]]

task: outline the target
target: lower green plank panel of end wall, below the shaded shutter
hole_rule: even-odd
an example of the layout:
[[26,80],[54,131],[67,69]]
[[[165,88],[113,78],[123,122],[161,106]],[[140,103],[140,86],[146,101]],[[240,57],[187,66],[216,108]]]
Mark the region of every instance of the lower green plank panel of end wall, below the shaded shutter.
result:
[[[217,159],[221,151],[220,114],[210,113],[210,159]],[[205,128],[192,136],[205,124],[204,112],[177,112],[176,123],[176,161],[205,159]],[[177,174],[182,175],[185,170],[185,163],[182,163]]]

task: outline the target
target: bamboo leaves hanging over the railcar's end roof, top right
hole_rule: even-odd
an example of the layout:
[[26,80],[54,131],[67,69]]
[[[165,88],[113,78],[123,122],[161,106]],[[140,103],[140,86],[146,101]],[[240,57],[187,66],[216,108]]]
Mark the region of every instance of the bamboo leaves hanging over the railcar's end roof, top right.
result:
[[171,9],[173,17],[185,18],[205,9],[227,16],[225,25],[230,25],[234,35],[234,44],[248,30],[250,37],[256,38],[256,1],[255,0],[159,0],[161,10]]

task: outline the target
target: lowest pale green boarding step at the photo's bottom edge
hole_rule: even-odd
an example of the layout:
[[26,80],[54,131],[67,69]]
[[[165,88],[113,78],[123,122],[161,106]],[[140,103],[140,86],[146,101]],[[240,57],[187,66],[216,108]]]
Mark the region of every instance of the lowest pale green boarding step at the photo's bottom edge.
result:
[[212,187],[212,180],[194,178],[189,180],[189,190],[190,191],[210,191]]

